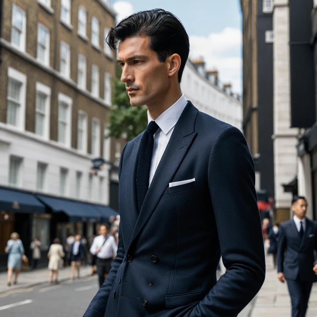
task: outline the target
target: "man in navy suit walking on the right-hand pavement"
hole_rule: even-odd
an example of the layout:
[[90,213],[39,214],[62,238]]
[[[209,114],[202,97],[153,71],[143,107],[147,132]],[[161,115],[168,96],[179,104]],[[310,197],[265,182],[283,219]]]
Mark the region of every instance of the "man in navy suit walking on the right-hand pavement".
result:
[[[294,217],[281,223],[277,250],[278,279],[286,279],[292,302],[292,317],[304,317],[313,282],[317,281],[317,222],[305,217],[305,197],[292,201]],[[286,256],[284,253],[286,251]]]

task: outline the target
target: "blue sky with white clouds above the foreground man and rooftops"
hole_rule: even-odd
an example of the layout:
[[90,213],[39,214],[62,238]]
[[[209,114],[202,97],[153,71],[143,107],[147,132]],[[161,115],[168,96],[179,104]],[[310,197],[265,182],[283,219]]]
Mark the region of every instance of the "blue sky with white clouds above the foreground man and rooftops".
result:
[[126,0],[113,1],[121,19],[154,8],[171,11],[190,36],[190,58],[203,56],[206,68],[217,68],[222,82],[242,91],[242,33],[239,0]]

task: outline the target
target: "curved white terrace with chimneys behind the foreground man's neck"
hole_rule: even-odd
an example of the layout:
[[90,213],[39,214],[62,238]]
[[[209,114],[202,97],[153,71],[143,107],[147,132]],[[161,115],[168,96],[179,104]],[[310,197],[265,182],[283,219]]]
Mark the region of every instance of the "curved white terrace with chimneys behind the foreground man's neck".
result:
[[181,81],[186,99],[191,100],[199,111],[242,130],[242,102],[236,94],[231,93],[230,85],[219,87],[215,75],[208,73],[202,60],[195,64],[187,61]]

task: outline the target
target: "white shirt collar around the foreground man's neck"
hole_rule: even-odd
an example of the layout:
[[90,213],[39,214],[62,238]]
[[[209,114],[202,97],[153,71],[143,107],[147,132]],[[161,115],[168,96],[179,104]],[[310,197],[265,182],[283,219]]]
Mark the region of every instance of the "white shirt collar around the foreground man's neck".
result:
[[[176,125],[180,115],[182,114],[184,108],[187,105],[187,100],[182,94],[179,99],[167,108],[163,113],[161,113],[156,120],[154,120],[160,129],[165,133],[169,133],[171,128]],[[151,118],[149,112],[147,112],[147,124],[149,124],[153,119]]]

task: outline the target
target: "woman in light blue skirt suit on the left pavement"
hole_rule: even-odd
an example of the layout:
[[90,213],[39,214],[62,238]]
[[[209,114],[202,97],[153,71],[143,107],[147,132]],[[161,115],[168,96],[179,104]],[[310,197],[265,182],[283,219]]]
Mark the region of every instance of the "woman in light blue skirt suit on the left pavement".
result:
[[8,286],[11,286],[11,278],[13,270],[15,270],[16,276],[13,284],[16,284],[18,275],[21,270],[22,256],[24,255],[24,248],[22,241],[19,239],[17,232],[12,232],[10,240],[7,243],[5,252],[9,253],[8,256]]

